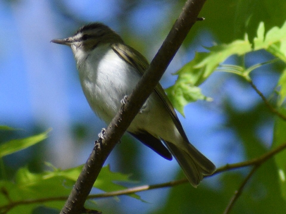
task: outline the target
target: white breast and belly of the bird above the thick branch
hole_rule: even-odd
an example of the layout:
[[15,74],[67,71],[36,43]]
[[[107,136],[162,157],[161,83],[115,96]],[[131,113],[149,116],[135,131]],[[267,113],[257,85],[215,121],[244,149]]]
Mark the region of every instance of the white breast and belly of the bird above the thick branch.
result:
[[85,57],[78,66],[83,92],[96,114],[109,123],[140,76],[109,45],[102,45]]

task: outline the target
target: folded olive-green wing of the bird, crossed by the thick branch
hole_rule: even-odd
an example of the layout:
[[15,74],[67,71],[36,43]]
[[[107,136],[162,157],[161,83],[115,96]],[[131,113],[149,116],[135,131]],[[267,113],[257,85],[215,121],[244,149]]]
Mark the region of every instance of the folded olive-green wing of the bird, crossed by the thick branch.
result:
[[[142,56],[142,54],[140,54],[138,51],[136,51],[134,48],[120,43],[112,44],[111,47],[114,50],[114,52],[118,54],[122,59],[131,64],[133,67],[136,67],[140,75],[143,75],[145,70],[148,68],[149,63],[147,59],[144,56]],[[186,141],[188,141],[187,136],[183,130],[183,127],[178,119],[178,116],[172,106],[172,103],[170,102],[169,98],[165,94],[164,89],[160,84],[156,85],[155,92],[158,95],[158,97],[160,97],[161,101],[164,103],[164,106],[168,109],[170,116],[181,136]]]

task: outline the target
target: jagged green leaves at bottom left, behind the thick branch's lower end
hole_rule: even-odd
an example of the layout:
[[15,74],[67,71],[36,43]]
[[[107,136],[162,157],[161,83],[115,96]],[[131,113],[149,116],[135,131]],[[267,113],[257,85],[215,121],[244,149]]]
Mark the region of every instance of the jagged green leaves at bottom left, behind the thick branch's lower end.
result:
[[[49,164],[49,166],[52,165]],[[17,171],[15,183],[0,180],[0,190],[4,188],[8,197],[12,199],[13,202],[43,199],[41,202],[29,204],[29,210],[33,210],[40,205],[61,209],[66,198],[69,196],[71,188],[77,180],[82,167],[83,166],[81,165],[65,170],[52,167],[52,171],[45,171],[42,173],[32,173],[27,167],[24,167]],[[100,171],[100,174],[94,183],[94,187],[103,191],[126,189],[126,187],[116,184],[114,181],[130,182],[129,175],[111,172],[109,166],[105,166]],[[131,194],[130,196],[140,199],[136,194]],[[49,198],[58,199],[49,200]],[[0,193],[0,207],[9,203],[10,200],[8,200],[7,196]],[[9,213],[16,213],[15,210],[18,212],[19,207],[13,208]]]

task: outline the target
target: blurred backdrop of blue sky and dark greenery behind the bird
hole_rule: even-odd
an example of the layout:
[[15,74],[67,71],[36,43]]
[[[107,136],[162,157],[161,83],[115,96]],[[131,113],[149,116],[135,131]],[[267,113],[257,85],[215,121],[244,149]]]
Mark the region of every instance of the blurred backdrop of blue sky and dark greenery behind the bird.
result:
[[[206,20],[192,28],[161,80],[163,87],[174,84],[176,76],[172,73],[192,60],[195,51],[207,51],[204,47],[242,39],[245,32],[252,40],[260,21],[266,23],[266,30],[281,26],[285,15],[277,18],[271,15],[271,10],[284,8],[285,4],[279,1],[276,6],[267,4],[207,1],[201,12]],[[105,127],[83,95],[70,48],[50,43],[52,39],[68,37],[84,24],[99,21],[118,32],[150,61],[183,5],[184,1],[172,0],[1,0],[0,124],[19,130],[1,133],[0,138],[5,141],[11,136],[24,137],[52,128],[46,141],[4,158],[8,174],[13,177],[23,166],[41,171],[45,161],[62,169],[80,165]],[[254,8],[264,8],[267,13]],[[250,54],[245,64],[250,66],[269,59],[272,59],[270,54],[259,51]],[[226,63],[235,64],[239,60],[232,57]],[[254,83],[266,97],[271,96],[277,84],[279,66],[279,63],[264,66],[253,73]],[[235,75],[214,73],[201,89],[213,101],[191,103],[185,107],[185,118],[181,115],[179,118],[190,142],[217,167],[255,157],[271,146],[273,116],[247,83]],[[247,145],[259,145],[259,149],[251,150]],[[125,184],[130,186],[184,177],[176,161],[164,160],[127,134],[105,164],[112,171],[131,174],[136,182]],[[206,210],[210,207],[223,210],[236,187],[226,188],[227,183],[229,187],[231,183],[238,186],[247,172],[245,169],[231,172],[227,178],[218,175],[207,178],[197,189],[184,184],[138,193],[143,201],[120,196],[98,200],[97,205],[105,213],[169,213],[166,210],[172,210],[170,207],[175,207],[172,203],[176,203],[179,208],[172,213],[191,210],[204,213],[196,207],[204,199]],[[226,188],[229,194],[225,194],[225,203],[220,204],[217,201],[224,200],[218,197],[221,188]],[[261,191],[255,192],[258,198],[264,194]],[[57,213],[44,208],[41,212]]]

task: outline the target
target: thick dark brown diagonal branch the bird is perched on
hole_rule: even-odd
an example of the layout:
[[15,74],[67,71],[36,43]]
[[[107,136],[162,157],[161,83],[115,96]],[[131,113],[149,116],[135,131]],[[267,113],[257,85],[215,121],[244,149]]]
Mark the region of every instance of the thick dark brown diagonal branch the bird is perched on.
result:
[[143,103],[153,92],[164,71],[172,61],[189,30],[197,21],[206,0],[187,0],[170,33],[150,63],[127,102],[105,130],[104,139],[99,139],[92,150],[68,200],[60,214],[79,214],[85,211],[84,203],[111,150],[120,140]]

